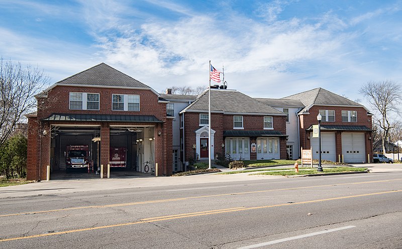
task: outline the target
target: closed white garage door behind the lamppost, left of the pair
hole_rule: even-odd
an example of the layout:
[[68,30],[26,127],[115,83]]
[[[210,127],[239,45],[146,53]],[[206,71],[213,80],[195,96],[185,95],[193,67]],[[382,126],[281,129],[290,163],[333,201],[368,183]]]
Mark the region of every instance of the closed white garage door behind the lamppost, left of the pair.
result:
[[[310,137],[313,159],[318,159],[318,138]],[[335,133],[321,133],[321,159],[336,162]]]

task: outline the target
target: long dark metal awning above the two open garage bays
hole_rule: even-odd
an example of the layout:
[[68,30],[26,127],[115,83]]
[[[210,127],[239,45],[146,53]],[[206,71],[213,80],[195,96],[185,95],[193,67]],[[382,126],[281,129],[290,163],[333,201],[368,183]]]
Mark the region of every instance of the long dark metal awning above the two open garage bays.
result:
[[104,114],[60,114],[53,113],[44,121],[105,121],[105,122],[153,122],[163,121],[154,115],[104,115]]

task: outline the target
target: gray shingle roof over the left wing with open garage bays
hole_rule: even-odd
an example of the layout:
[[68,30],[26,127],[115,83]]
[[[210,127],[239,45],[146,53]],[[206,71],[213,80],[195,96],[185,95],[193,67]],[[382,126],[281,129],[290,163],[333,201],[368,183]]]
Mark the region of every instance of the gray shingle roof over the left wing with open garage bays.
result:
[[151,88],[105,63],[100,63],[88,68],[82,72],[60,80],[56,84]]

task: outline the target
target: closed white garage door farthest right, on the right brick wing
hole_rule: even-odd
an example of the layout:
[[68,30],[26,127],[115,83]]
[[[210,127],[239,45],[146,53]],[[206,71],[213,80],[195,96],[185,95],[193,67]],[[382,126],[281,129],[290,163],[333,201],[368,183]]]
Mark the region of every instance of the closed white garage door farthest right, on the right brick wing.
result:
[[342,133],[342,154],[345,163],[364,163],[364,133]]

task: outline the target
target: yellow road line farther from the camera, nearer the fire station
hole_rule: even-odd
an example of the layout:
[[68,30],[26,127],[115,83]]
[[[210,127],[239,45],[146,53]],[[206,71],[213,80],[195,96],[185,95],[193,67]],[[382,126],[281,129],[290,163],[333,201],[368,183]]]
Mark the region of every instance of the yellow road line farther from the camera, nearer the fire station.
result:
[[160,203],[160,202],[169,202],[169,201],[189,200],[189,199],[197,199],[197,198],[219,197],[219,196],[227,196],[227,195],[255,194],[255,193],[273,192],[273,191],[308,189],[308,188],[321,188],[321,187],[330,187],[330,186],[338,186],[338,185],[341,186],[341,185],[368,184],[368,183],[391,182],[391,181],[400,181],[400,180],[402,180],[402,178],[400,178],[400,179],[390,179],[390,180],[366,181],[366,182],[327,184],[327,185],[307,186],[307,187],[294,187],[294,188],[281,188],[281,189],[270,189],[270,190],[258,190],[258,191],[248,191],[248,192],[238,192],[238,193],[227,193],[227,194],[190,196],[190,197],[173,198],[173,199],[162,199],[162,200],[152,200],[152,201],[139,201],[139,202],[129,202],[129,203],[108,204],[108,205],[94,205],[94,206],[69,207],[69,208],[61,208],[61,209],[53,209],[53,210],[44,210],[44,211],[32,211],[32,212],[26,212],[26,213],[2,214],[2,215],[0,215],[0,217],[15,216],[15,215],[25,215],[25,214],[37,214],[37,213],[59,212],[59,211],[67,211],[67,210],[75,210],[75,209],[85,209],[85,208],[107,208],[107,207],[132,206],[132,205],[140,205],[140,204],[150,204],[150,203]]

